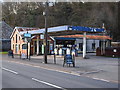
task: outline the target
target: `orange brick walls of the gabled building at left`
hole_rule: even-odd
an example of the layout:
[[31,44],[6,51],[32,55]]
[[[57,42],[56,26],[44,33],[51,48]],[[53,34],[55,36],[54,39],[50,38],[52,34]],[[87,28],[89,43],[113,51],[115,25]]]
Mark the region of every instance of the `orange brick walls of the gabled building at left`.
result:
[[[16,43],[16,35],[17,35],[17,43]],[[14,40],[13,40],[13,37],[14,37]],[[26,54],[27,53],[26,49],[22,49],[22,45],[26,44],[26,42],[24,42],[22,40],[22,37],[19,34],[18,30],[16,30],[14,32],[13,37],[11,38],[11,49],[13,50],[13,53],[14,54],[20,54],[20,53]],[[19,37],[20,37],[20,39],[19,39]],[[28,44],[28,52],[31,52],[31,54],[36,54],[35,44],[34,44],[35,41],[37,41],[36,37],[31,40],[31,46],[32,46],[31,51],[30,51],[30,44]],[[43,42],[43,39],[39,39],[39,41]],[[50,44],[53,44],[53,40],[50,39],[49,37],[48,37],[48,41],[50,42]],[[13,45],[14,45],[14,48],[13,48]],[[18,52],[16,52],[16,45],[17,45]],[[19,45],[20,45],[20,47],[19,47]],[[50,53],[49,49],[48,49],[48,53]]]

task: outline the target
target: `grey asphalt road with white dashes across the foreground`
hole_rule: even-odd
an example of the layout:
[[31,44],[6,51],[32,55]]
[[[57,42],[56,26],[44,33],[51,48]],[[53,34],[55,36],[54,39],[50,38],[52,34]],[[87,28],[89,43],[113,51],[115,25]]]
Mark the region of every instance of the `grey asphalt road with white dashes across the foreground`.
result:
[[118,88],[117,83],[2,61],[2,88]]

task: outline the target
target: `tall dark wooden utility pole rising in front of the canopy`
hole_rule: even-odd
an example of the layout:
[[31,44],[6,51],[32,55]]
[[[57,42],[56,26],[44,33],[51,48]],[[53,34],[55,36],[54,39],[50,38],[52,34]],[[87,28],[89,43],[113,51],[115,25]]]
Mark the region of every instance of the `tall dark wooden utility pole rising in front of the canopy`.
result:
[[45,41],[44,41],[44,63],[47,64],[47,54],[48,54],[48,45],[47,45],[47,37],[48,37],[48,26],[47,26],[47,17],[48,17],[48,2],[45,2]]

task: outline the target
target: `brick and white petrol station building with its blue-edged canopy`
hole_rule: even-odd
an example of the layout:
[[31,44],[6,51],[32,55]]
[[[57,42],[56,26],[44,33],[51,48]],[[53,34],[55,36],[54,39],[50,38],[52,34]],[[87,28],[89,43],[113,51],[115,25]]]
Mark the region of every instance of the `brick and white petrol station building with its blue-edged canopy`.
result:
[[[56,26],[48,28],[48,54],[53,54],[54,49],[76,47],[78,53],[95,52],[97,47],[110,46],[111,38],[104,34],[103,28],[81,26]],[[27,43],[25,33],[31,34]],[[11,49],[14,54],[42,55],[44,54],[45,29],[32,27],[15,27],[11,34]],[[28,46],[27,46],[28,44]],[[28,49],[27,49],[28,48]]]

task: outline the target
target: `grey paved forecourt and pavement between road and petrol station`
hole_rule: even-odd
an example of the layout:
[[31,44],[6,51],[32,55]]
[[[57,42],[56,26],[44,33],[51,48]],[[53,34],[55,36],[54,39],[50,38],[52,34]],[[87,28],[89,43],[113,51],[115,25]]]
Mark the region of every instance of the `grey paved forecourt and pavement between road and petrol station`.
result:
[[43,55],[31,56],[30,60],[22,60],[19,56],[14,58],[3,55],[3,60],[9,62],[19,63],[23,65],[38,67],[42,69],[73,74],[76,76],[89,77],[101,81],[119,83],[118,80],[118,68],[119,59],[111,57],[95,56],[95,54],[87,54],[89,59],[83,59],[82,55],[75,58],[75,67],[64,66],[62,56],[56,56],[56,64],[54,64],[54,57],[48,55],[48,64],[44,64]]

